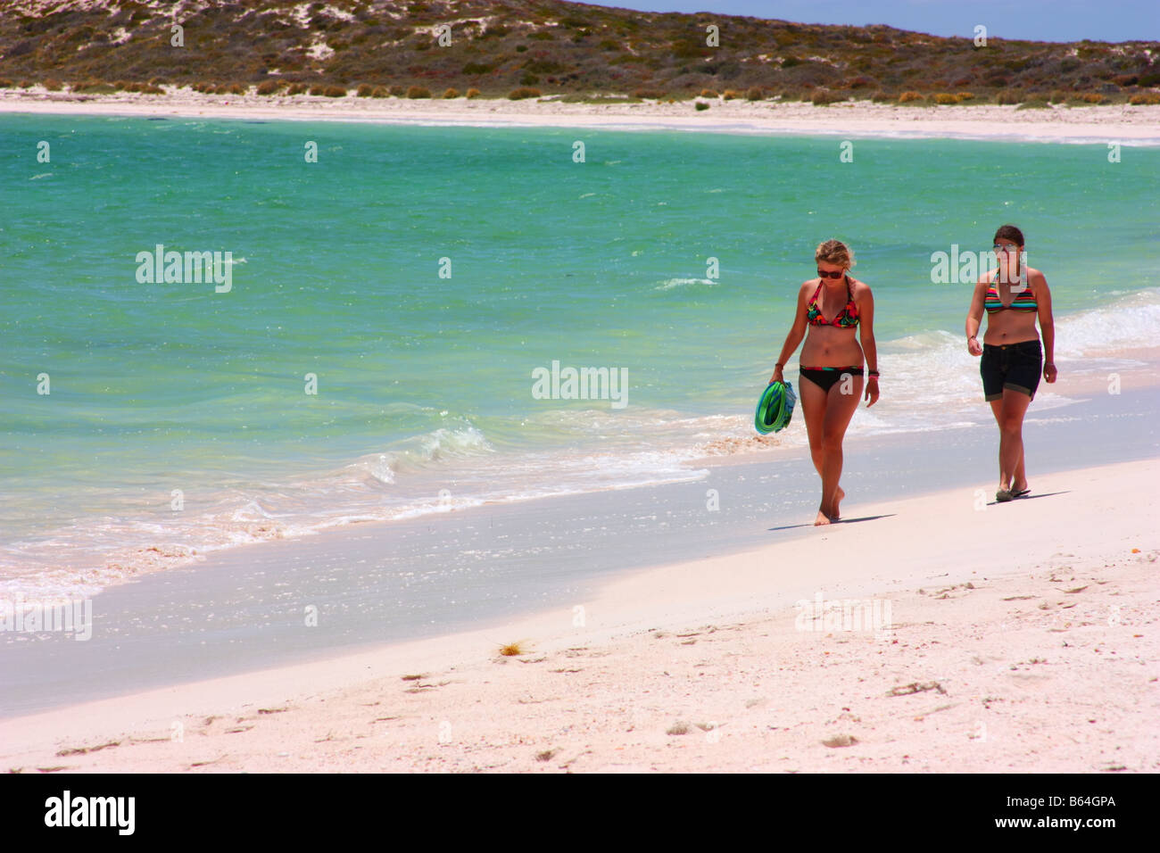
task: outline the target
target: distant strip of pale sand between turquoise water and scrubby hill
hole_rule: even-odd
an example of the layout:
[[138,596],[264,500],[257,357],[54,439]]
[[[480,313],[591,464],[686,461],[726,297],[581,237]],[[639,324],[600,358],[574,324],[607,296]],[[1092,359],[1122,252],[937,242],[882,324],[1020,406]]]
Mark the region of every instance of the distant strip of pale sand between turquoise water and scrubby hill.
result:
[[[444,100],[351,95],[342,99],[320,95],[204,95],[188,88],[164,95],[86,95],[2,89],[0,114],[1160,145],[1160,106],[1155,104],[1051,106],[1021,110],[1015,106],[998,104],[899,107],[871,101],[847,101],[822,107],[796,101],[717,99],[710,109],[698,113],[693,101],[609,104],[570,103],[553,100],[552,96],[509,101],[481,97]],[[839,122],[841,129],[834,130]]]

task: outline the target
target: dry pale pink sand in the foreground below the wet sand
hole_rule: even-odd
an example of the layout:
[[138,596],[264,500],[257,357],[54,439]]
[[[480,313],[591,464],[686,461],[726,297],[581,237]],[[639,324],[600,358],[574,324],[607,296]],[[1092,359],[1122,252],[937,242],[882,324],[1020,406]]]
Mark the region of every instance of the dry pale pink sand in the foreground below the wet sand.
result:
[[[863,504],[617,576],[578,601],[583,624],[554,608],[12,717],[0,756],[16,772],[1155,772],[1158,474],[1041,475],[983,508],[964,489]],[[802,630],[793,602],[817,591],[889,600],[890,636]],[[496,655],[517,639],[528,653]]]

